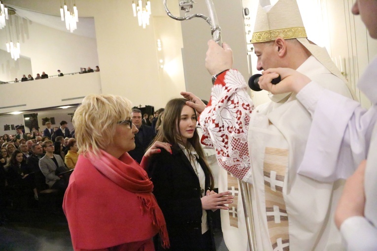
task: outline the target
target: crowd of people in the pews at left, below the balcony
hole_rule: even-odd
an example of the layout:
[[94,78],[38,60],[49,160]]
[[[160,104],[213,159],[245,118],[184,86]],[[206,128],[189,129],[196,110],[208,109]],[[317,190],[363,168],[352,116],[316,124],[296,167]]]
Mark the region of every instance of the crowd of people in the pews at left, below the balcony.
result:
[[[6,208],[17,206],[20,200],[39,200],[39,193],[55,189],[62,194],[69,175],[62,173],[73,170],[78,158],[78,147],[74,130],[69,131],[67,122],[52,128],[46,123],[43,131],[35,128],[24,133],[16,127],[15,135],[4,134],[0,138],[0,222],[6,218]],[[52,139],[52,140],[51,140]],[[27,204],[18,203],[25,207]]]

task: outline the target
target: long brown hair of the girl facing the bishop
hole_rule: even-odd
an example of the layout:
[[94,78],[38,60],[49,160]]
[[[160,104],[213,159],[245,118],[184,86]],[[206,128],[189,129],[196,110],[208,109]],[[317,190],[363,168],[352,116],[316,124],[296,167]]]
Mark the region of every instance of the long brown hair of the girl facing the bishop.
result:
[[[200,143],[197,129],[195,128],[194,136],[192,138],[187,139],[186,144],[182,142],[181,140],[182,135],[179,132],[179,129],[177,130],[177,128],[179,127],[178,125],[181,121],[180,119],[181,112],[182,112],[183,106],[186,105],[186,101],[187,99],[184,99],[184,98],[173,98],[166,104],[165,116],[161,124],[161,128],[158,131],[153,142],[150,144],[150,146],[153,145],[153,143],[156,141],[168,142],[172,146],[175,146],[179,143],[183,145],[188,152],[190,152],[190,148],[192,146],[194,150],[197,152],[197,154],[199,155],[199,157],[203,159],[203,161],[205,162],[205,166],[202,166],[202,168],[204,169],[204,172],[209,175],[209,180],[210,180],[209,188],[212,190],[214,186],[214,178],[213,178],[211,170],[208,167],[206,158],[204,156],[204,152]],[[189,157],[191,158],[191,155],[189,155]]]

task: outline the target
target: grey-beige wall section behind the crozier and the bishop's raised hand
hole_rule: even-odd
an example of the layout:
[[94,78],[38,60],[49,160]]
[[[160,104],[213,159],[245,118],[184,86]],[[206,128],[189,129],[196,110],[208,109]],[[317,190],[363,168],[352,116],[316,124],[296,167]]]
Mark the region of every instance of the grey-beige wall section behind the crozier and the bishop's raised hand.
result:
[[[171,5],[174,1],[171,1]],[[178,5],[177,2],[175,4]],[[214,7],[222,31],[222,40],[232,47],[234,65],[248,78],[246,38],[240,0],[216,0]],[[205,1],[197,1],[190,14],[208,15]],[[174,15],[179,13],[175,12]],[[181,11],[181,15],[183,16]],[[178,22],[178,21],[176,21]],[[181,21],[183,36],[183,64],[186,89],[202,99],[209,100],[211,75],[205,67],[207,42],[212,39],[210,26],[202,18]]]

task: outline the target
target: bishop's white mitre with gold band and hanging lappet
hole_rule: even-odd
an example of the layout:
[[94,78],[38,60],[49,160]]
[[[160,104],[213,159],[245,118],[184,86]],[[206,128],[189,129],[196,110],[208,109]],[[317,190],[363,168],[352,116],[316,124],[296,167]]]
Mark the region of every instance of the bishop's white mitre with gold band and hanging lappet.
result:
[[319,47],[307,38],[304,23],[296,0],[278,0],[274,6],[262,7],[258,4],[257,15],[251,43],[274,41],[276,38],[297,39],[331,73],[341,78],[351,92],[356,95],[341,71],[331,60],[326,48]]

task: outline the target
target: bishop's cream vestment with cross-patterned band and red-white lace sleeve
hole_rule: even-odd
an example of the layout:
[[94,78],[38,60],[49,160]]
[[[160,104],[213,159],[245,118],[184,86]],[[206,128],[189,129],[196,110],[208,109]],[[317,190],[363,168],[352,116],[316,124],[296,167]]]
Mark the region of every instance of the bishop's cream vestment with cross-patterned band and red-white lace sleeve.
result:
[[[345,83],[314,57],[297,70],[351,97]],[[234,69],[220,74],[200,117],[208,136],[202,142],[213,144],[222,167],[253,185],[258,251],[343,250],[333,220],[343,181],[318,182],[297,174],[311,115],[294,94],[270,98],[253,110],[241,74]]]

